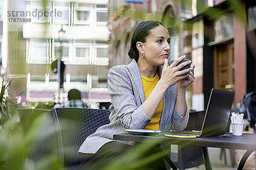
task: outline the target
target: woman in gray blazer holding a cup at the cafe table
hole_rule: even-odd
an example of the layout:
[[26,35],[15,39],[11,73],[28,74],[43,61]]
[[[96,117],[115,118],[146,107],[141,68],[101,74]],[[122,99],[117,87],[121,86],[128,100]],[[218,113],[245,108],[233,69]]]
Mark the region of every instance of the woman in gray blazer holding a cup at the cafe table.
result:
[[99,127],[81,145],[81,166],[116,156],[133,145],[113,140],[113,134],[127,133],[125,129],[169,131],[186,127],[189,113],[185,93],[194,81],[195,65],[179,71],[190,63],[176,67],[186,57],[182,56],[167,67],[169,43],[169,33],[160,22],[142,22],[134,29],[128,51],[131,63],[114,66],[108,74],[111,123]]

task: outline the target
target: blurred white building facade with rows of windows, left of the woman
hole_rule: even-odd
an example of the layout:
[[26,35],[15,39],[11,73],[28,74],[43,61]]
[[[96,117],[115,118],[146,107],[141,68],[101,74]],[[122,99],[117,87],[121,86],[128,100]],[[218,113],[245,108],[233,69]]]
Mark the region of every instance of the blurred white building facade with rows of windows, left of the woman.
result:
[[[19,92],[28,102],[65,102],[71,88],[81,91],[84,102],[110,102],[108,0],[11,0],[5,8],[11,11],[6,18],[6,74],[26,77]],[[31,22],[13,23],[12,11],[37,15],[24,17]],[[51,69],[58,57],[65,64],[60,96],[58,75]]]

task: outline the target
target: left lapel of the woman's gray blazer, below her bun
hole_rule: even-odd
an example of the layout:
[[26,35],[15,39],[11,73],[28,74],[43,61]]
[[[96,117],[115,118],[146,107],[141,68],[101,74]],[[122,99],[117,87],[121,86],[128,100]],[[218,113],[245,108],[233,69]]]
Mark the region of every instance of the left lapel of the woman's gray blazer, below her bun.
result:
[[143,88],[143,84],[140,76],[140,70],[135,59],[133,59],[131,63],[127,65],[127,68],[130,71],[131,77],[134,80],[134,85],[136,86],[135,89],[137,89],[139,93],[140,101],[141,103],[143,103],[146,100],[145,93],[144,93],[144,88]]

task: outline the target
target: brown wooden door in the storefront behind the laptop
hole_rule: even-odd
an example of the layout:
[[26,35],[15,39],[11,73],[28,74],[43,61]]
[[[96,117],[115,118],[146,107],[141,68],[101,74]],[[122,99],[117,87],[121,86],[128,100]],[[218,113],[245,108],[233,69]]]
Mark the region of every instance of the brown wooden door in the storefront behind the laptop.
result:
[[[233,51],[233,42],[214,48],[214,88],[235,91]],[[234,104],[232,108],[235,107]]]

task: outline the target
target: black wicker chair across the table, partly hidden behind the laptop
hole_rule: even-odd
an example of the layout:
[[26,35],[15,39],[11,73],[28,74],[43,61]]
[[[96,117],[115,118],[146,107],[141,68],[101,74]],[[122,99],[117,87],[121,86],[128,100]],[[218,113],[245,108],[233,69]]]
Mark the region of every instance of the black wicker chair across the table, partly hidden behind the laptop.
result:
[[[205,111],[189,113],[189,122],[185,130],[201,131],[205,113]],[[201,164],[204,164],[203,150],[200,146],[178,145],[177,153],[172,152],[171,159],[175,166],[180,170],[197,167]]]

